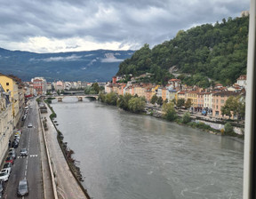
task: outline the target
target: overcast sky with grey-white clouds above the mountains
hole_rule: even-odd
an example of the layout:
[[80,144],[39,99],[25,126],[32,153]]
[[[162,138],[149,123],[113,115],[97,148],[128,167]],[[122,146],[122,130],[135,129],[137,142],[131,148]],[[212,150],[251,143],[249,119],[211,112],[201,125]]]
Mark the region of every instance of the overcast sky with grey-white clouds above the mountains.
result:
[[28,52],[138,50],[223,18],[249,0],[0,0],[0,47]]

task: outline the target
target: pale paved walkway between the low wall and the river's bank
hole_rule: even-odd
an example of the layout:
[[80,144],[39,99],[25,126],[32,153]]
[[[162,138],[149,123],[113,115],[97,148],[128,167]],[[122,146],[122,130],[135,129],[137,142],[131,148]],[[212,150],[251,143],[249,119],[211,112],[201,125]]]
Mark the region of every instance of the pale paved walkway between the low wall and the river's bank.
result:
[[52,111],[49,107],[47,109],[48,113],[41,114],[41,116],[47,119],[48,130],[45,131],[45,137],[49,149],[58,197],[63,199],[86,199],[82,188],[79,187],[75,177],[69,170],[68,163],[62,154],[57,140],[57,131],[50,119]]

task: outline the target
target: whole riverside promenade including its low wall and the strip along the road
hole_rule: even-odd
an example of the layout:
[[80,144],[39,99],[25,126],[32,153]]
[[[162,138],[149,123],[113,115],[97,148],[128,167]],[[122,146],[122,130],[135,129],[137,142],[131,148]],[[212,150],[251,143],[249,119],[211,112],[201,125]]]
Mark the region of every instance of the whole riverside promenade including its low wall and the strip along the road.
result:
[[[52,111],[49,107],[47,109],[48,113],[40,115],[41,122],[45,118],[48,127],[48,130],[44,131],[44,128],[42,129],[42,136],[44,137],[42,139],[45,140],[45,153],[49,154],[48,157],[47,155],[44,155],[42,158],[44,197],[46,199],[87,199],[84,191],[79,186],[68,167],[68,163],[66,162],[57,140],[57,131],[50,119]],[[47,165],[45,161],[50,161],[51,165]]]

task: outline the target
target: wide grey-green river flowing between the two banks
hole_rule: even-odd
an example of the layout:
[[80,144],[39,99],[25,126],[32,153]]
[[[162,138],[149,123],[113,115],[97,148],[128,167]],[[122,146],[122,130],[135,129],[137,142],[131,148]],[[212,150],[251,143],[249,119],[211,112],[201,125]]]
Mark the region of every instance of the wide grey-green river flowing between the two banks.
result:
[[241,199],[244,144],[96,101],[52,100],[94,199]]

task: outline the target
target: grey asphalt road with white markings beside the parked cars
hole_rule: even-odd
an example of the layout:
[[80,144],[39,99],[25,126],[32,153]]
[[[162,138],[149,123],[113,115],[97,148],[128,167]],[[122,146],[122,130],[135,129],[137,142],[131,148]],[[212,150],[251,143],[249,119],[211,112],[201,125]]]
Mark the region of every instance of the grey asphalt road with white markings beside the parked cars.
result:
[[[43,199],[43,177],[41,167],[41,155],[38,136],[38,113],[36,111],[36,100],[30,100],[28,115],[20,137],[19,147],[16,148],[17,158],[12,166],[12,173],[7,183],[5,183],[4,198],[13,199],[17,196],[17,188],[20,179],[28,179],[28,196],[22,198]],[[28,123],[32,123],[33,127],[28,128]],[[20,157],[20,148],[28,148],[28,156]]]

